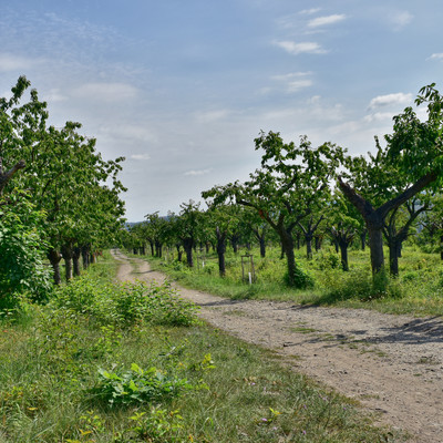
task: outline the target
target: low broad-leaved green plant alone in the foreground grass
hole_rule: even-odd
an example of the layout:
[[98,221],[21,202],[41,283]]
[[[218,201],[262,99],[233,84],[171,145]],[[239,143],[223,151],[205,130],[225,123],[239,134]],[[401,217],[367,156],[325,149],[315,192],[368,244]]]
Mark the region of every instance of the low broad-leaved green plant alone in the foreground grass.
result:
[[123,373],[100,370],[99,378],[99,384],[92,392],[111,405],[169,400],[193,389],[186,379],[178,379],[156,368],[143,370],[135,363],[132,363],[131,371]]

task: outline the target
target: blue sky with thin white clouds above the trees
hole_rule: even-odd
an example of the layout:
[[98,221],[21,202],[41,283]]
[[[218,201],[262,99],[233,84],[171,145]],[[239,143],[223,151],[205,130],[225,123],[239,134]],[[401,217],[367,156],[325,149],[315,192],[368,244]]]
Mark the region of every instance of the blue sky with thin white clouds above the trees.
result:
[[80,122],[105,159],[124,156],[128,222],[247,179],[260,131],[361,155],[422,86],[443,90],[441,0],[0,0],[0,96],[25,75],[50,124]]

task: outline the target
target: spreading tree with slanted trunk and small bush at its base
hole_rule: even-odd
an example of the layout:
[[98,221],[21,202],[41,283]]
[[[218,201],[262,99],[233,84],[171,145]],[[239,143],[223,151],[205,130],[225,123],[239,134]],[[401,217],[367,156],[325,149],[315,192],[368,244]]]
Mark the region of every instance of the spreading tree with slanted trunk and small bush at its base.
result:
[[287,257],[290,286],[306,287],[309,278],[296,266],[292,230],[312,213],[316,203],[329,195],[329,181],[343,158],[343,151],[331,143],[313,148],[306,136],[300,145],[285,143],[279,133],[260,133],[256,150],[262,150],[261,168],[244,184],[216,186],[207,195],[216,200],[235,196],[254,208],[278,234]]

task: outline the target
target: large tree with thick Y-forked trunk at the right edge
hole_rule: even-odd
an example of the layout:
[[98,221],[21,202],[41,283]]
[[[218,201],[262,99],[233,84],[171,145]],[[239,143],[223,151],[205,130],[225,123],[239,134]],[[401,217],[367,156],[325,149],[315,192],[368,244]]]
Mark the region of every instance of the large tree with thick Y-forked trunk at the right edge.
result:
[[[423,103],[427,103],[427,121],[421,122],[412,107],[406,107],[393,119],[393,133],[384,136],[387,146],[382,148],[375,138],[377,156],[367,163],[362,157],[348,162],[350,179],[338,179],[340,189],[365,222],[374,276],[384,268],[382,233],[388,215],[422,189],[437,187],[442,181],[443,97],[434,84],[420,91],[415,104]],[[385,189],[384,198],[374,203],[371,187]]]

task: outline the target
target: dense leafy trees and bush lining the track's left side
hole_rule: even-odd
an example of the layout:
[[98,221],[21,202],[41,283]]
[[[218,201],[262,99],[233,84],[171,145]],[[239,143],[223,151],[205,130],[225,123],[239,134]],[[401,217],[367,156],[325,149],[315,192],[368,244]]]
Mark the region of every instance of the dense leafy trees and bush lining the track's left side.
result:
[[[0,99],[0,298],[48,289],[87,267],[123,226],[123,157],[104,161],[80,123],[49,125],[45,102],[21,76]],[[49,259],[52,272],[43,265]],[[35,276],[40,276],[35,279]]]

